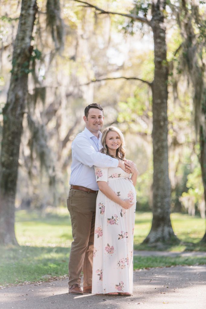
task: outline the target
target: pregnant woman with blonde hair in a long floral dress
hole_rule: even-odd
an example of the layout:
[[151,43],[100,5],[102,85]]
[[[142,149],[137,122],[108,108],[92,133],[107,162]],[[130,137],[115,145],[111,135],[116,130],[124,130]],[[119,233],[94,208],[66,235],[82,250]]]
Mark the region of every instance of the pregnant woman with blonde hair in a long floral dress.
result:
[[[115,127],[102,133],[102,153],[124,160],[124,138]],[[117,168],[97,168],[92,293],[131,296],[133,289],[133,234],[135,226],[137,168],[130,174]]]

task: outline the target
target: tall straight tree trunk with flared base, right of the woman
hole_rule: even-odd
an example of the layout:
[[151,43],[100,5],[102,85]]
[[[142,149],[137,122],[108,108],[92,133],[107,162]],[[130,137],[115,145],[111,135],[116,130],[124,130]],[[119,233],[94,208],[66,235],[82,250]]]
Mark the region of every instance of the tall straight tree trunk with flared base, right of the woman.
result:
[[154,36],[155,72],[152,83],[153,112],[153,218],[144,243],[164,243],[177,239],[170,221],[170,180],[168,171],[168,123],[165,0],[153,1],[151,27]]

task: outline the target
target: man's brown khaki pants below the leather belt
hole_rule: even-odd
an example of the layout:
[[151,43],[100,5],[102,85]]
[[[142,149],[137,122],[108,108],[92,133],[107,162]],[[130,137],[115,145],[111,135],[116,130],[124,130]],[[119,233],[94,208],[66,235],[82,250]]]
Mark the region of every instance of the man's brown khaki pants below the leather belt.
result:
[[94,247],[94,224],[97,194],[70,189],[67,208],[70,212],[72,236],[69,258],[69,286],[80,285],[83,271],[83,286],[92,285],[92,260]]

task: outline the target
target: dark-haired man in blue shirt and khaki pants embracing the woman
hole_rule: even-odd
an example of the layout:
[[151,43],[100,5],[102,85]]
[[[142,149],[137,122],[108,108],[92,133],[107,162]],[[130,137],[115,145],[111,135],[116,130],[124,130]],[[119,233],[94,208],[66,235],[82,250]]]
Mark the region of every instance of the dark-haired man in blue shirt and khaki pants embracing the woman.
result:
[[[89,104],[84,110],[86,127],[72,143],[70,191],[67,208],[70,212],[72,236],[69,259],[69,293],[92,292],[92,259],[94,224],[98,186],[94,165],[97,167],[122,167],[118,159],[101,154],[101,132],[104,116],[99,104]],[[83,291],[80,274],[83,270]]]

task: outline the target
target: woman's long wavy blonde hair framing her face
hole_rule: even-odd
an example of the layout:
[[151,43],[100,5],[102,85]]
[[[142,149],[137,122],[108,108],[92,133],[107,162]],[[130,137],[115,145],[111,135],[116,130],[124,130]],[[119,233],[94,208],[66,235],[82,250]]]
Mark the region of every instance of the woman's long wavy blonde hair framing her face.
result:
[[[106,137],[107,137],[108,132],[116,132],[119,135],[121,145],[116,150],[116,156],[109,154],[109,150],[108,150],[108,147],[106,145]],[[102,132],[101,143],[102,143],[102,146],[103,146],[103,148],[100,150],[101,153],[103,153],[105,155],[109,155],[110,157],[113,157],[113,158],[124,160],[124,158],[125,158],[125,149],[124,149],[125,143],[124,143],[124,136],[123,136],[122,132],[120,131],[120,129],[118,129],[116,127],[107,127],[106,129],[104,129],[104,131]]]

